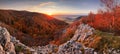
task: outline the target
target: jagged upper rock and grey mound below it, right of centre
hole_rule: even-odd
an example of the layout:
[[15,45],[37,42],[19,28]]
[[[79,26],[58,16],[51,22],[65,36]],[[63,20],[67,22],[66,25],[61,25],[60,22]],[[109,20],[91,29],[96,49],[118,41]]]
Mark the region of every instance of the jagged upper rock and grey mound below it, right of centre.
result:
[[[92,48],[87,48],[78,41],[84,41],[89,35],[93,34],[94,29],[88,25],[78,26],[73,38],[59,46],[59,54],[93,54]],[[84,50],[84,52],[82,51]]]

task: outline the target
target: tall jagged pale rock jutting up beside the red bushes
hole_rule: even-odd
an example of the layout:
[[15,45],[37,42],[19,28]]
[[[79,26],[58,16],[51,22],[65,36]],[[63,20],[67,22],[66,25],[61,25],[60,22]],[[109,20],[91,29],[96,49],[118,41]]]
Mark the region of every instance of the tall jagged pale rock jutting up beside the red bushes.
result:
[[89,25],[81,24],[71,40],[84,41],[89,35],[93,34],[94,29]]

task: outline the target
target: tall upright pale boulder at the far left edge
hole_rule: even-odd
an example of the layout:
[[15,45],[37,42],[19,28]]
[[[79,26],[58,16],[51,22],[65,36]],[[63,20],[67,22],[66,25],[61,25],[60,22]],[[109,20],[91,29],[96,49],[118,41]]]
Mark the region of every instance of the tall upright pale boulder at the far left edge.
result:
[[[0,27],[0,53],[2,54],[16,54],[15,52],[15,46],[14,44],[10,41],[10,34],[9,32],[5,29]],[[4,49],[4,50],[3,50]]]

